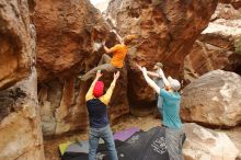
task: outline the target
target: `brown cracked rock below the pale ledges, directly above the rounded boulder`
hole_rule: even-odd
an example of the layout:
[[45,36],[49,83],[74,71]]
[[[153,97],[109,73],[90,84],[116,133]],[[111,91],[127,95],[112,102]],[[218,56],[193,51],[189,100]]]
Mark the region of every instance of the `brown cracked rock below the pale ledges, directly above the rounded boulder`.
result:
[[217,69],[241,75],[240,68],[241,54],[196,41],[184,60],[184,81],[188,84],[204,73]]

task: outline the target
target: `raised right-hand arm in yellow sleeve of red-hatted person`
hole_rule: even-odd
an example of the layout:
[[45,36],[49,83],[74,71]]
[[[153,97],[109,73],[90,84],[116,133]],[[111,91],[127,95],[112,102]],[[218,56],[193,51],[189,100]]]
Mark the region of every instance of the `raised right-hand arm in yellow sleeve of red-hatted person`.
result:
[[112,93],[115,89],[115,84],[116,84],[118,77],[119,77],[119,71],[114,73],[114,78],[113,78],[113,81],[112,81],[110,88],[107,89],[106,93],[100,99],[105,105],[108,105],[108,103],[111,101]]

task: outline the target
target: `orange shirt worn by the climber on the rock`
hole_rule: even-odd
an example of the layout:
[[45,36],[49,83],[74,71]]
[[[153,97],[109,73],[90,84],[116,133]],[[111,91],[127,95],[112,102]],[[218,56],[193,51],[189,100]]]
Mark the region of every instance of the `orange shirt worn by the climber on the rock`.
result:
[[116,68],[123,68],[124,60],[127,54],[127,46],[126,45],[115,45],[111,48],[111,53],[113,54],[111,64]]

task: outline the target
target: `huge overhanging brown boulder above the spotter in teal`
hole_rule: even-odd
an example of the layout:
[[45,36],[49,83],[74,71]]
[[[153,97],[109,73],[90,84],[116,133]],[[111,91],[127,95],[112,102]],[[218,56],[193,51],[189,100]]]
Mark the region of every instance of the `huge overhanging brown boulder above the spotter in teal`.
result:
[[[112,0],[106,19],[124,36],[138,35],[129,49],[128,95],[135,111],[154,105],[154,93],[147,87],[135,62],[152,69],[162,61],[168,75],[180,78],[184,57],[195,39],[208,25],[217,0]],[[145,113],[144,112],[144,113]]]

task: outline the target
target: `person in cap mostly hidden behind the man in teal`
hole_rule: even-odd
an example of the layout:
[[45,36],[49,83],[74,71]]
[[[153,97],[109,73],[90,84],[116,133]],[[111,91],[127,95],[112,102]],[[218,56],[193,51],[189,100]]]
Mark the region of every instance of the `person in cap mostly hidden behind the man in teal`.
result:
[[[141,70],[141,66],[139,66],[138,64],[136,64],[137,68]],[[147,71],[147,73],[152,77],[153,81],[156,82],[156,84],[163,89],[165,85],[164,85],[164,82],[163,82],[163,79],[160,75],[160,70],[163,68],[163,65],[161,62],[156,62],[154,64],[154,67],[153,67],[153,70],[154,71]],[[161,114],[162,116],[162,104],[163,104],[163,99],[162,96],[159,96],[157,94],[157,99],[158,99],[158,103],[157,103],[157,106],[158,106],[158,111],[159,113]]]

